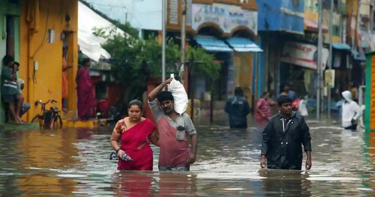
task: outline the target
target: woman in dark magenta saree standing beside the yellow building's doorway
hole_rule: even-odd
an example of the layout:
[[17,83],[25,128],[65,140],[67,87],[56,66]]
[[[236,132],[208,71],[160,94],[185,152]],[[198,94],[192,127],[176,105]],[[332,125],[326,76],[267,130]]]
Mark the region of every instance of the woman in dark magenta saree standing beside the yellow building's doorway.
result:
[[90,59],[85,58],[77,71],[77,110],[81,120],[88,120],[95,114],[95,96],[90,78]]

